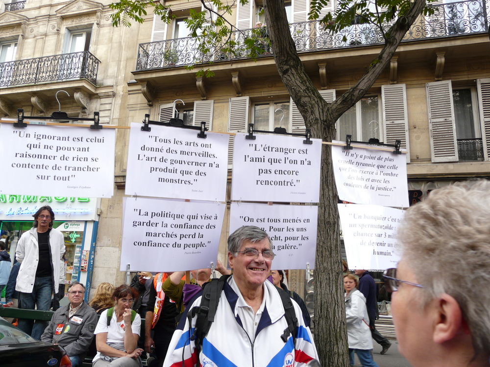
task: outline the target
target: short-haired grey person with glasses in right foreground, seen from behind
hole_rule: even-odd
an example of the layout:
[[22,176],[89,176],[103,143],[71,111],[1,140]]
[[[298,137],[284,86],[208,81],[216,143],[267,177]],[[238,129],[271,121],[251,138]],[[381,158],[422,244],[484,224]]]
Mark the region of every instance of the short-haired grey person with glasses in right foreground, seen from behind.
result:
[[398,349],[414,367],[489,367],[490,182],[431,191],[398,231],[385,272]]

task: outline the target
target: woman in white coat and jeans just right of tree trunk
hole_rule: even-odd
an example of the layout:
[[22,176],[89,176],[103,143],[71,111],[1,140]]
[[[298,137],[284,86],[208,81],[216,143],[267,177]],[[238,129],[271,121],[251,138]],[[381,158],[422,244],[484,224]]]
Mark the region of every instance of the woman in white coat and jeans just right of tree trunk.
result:
[[349,343],[349,364],[354,366],[354,352],[363,367],[378,367],[372,360],[372,339],[369,329],[366,298],[356,289],[359,281],[353,274],[343,277],[345,289],[345,316],[347,318],[347,339]]

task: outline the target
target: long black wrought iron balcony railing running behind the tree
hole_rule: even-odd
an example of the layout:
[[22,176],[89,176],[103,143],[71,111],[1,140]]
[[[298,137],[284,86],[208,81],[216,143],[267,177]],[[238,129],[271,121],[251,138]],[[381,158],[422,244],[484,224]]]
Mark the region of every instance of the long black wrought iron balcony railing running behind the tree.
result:
[[[420,16],[403,38],[403,42],[450,37],[462,34],[483,33],[488,30],[488,6],[486,0],[452,2],[431,5],[434,13]],[[385,25],[385,31],[391,24]],[[331,48],[382,44],[380,29],[371,24],[352,24],[341,32],[332,34],[319,21],[291,23],[289,25],[298,52],[311,52]],[[238,60],[249,57],[245,49],[245,38],[255,38],[260,47],[258,56],[270,55],[267,31],[257,28],[234,31],[231,39],[235,45],[231,52],[223,52],[223,44],[215,44],[206,53],[198,50],[198,41],[193,37],[149,42],[139,45],[136,70],[159,69],[172,66],[202,64],[210,61]]]

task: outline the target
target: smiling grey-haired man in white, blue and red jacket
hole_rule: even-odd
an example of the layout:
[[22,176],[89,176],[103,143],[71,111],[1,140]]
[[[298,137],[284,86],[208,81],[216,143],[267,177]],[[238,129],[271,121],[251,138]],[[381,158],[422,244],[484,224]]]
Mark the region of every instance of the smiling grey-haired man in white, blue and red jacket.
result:
[[[222,291],[209,295],[209,299],[217,297],[220,301],[217,306],[212,307],[210,302],[209,307],[198,311],[199,315],[213,314],[214,322],[198,343],[193,337],[199,329],[195,309],[201,305],[201,298],[208,296],[206,286],[204,296],[196,299],[192,311],[181,319],[173,334],[164,367],[296,367],[317,358],[310,328],[298,304],[266,281],[273,258],[272,244],[264,230],[254,226],[235,230],[228,237],[228,263],[233,275],[223,275],[209,284],[212,290],[213,282],[222,282]],[[291,313],[279,292],[289,300],[291,308],[287,310],[294,313],[291,326],[295,338],[287,333]]]

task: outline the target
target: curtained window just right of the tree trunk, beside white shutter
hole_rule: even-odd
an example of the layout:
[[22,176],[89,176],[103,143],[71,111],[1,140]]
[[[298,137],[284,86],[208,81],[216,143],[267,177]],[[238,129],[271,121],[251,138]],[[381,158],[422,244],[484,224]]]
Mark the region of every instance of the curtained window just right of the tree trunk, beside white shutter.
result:
[[370,138],[377,138],[382,141],[380,110],[377,95],[362,98],[339,118],[338,138],[345,140],[346,135],[352,135],[352,140],[368,141]]

